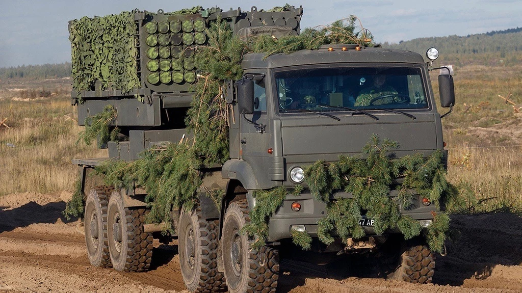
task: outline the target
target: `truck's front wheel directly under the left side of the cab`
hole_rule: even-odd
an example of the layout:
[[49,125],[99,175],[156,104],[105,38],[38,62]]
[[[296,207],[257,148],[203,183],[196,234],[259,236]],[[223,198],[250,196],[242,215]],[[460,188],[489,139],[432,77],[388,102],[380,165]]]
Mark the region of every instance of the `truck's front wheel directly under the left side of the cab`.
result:
[[[250,222],[246,200],[232,202],[224,216],[221,238],[224,275],[231,293],[275,292],[279,278],[279,253],[277,249],[263,247],[251,249],[252,238],[241,233]],[[233,261],[233,247],[236,260]]]

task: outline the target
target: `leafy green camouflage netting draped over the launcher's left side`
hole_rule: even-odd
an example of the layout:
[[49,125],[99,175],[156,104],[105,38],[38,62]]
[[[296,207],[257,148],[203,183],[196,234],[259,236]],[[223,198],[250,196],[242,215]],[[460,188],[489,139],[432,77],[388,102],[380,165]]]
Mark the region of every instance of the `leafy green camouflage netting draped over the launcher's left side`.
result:
[[90,91],[100,81],[102,89],[123,92],[140,87],[137,74],[137,10],[104,17],[82,17],[69,22],[73,63],[73,88]]

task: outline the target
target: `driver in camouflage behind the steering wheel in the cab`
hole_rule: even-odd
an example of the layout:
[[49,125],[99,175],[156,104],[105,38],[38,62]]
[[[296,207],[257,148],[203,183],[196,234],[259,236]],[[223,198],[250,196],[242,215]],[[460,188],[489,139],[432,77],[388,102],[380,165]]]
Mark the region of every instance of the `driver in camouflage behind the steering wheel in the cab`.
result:
[[[359,95],[357,96],[353,106],[359,107],[393,103],[395,99],[393,94],[398,94],[398,92],[392,86],[388,86],[386,84],[386,75],[376,74],[373,76],[373,85],[371,87],[362,89],[359,92]],[[384,95],[390,96],[383,97],[382,99],[376,99],[377,97]]]

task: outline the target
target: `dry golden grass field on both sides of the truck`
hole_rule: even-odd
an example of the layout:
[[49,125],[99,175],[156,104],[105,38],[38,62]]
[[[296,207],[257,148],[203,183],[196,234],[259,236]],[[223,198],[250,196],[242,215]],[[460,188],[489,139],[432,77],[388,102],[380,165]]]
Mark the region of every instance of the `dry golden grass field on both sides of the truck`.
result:
[[[480,201],[462,211],[522,211],[522,113],[498,96],[512,93],[522,106],[522,65],[457,66],[454,80],[457,105],[443,119],[448,178]],[[432,82],[438,99],[437,72]],[[41,97],[45,92],[50,96]],[[0,82],[0,121],[7,118],[10,127],[0,127],[0,195],[72,190],[77,172],[70,160],[106,156],[77,143],[81,127],[69,94],[68,79]]]

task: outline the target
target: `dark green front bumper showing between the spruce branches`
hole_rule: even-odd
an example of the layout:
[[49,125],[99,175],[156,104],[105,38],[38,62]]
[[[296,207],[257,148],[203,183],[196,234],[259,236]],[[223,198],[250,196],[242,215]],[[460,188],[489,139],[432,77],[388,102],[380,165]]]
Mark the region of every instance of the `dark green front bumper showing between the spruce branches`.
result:
[[[397,193],[398,191],[392,190],[390,196],[395,197]],[[334,197],[350,198],[351,194],[338,192]],[[291,205],[295,201],[301,203],[301,210],[299,212],[294,212],[291,209]],[[437,208],[434,203],[429,206],[424,206],[419,196],[414,197],[413,204],[408,207],[408,209],[404,209],[402,206],[400,207],[401,214],[409,215],[419,221],[423,219],[433,219],[432,212],[435,211],[437,211]],[[289,194],[277,213],[270,218],[268,241],[274,242],[284,238],[290,238],[292,225],[304,225],[307,233],[312,237],[317,237],[317,222],[323,218],[325,214],[326,204],[315,200],[310,191],[305,190],[300,196]],[[364,227],[364,230],[368,236],[375,235],[373,227]]]

